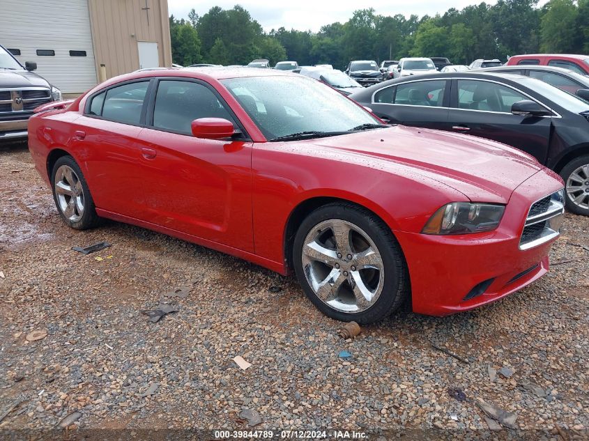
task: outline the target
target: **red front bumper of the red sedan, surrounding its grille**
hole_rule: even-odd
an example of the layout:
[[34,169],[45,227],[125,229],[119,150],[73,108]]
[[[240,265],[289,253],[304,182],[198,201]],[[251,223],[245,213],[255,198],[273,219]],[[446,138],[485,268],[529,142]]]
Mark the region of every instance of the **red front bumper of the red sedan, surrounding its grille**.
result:
[[546,274],[556,237],[525,250],[519,242],[531,204],[562,187],[552,173],[536,173],[513,192],[495,231],[445,236],[395,231],[411,277],[413,311],[431,316],[468,311]]

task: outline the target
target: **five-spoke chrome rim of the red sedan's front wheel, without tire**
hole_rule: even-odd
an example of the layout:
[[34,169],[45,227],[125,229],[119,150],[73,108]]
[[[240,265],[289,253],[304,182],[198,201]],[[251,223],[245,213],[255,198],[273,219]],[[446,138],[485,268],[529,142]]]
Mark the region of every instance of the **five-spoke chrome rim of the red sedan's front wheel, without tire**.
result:
[[337,311],[365,311],[383,291],[383,258],[369,235],[351,222],[330,219],[314,226],[302,261],[309,286]]

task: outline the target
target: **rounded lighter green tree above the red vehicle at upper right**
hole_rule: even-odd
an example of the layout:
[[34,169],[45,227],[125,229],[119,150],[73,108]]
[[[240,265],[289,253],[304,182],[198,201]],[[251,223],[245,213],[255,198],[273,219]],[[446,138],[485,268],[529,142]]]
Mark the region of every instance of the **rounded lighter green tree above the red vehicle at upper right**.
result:
[[574,52],[579,10],[572,0],[550,0],[542,15],[542,52]]

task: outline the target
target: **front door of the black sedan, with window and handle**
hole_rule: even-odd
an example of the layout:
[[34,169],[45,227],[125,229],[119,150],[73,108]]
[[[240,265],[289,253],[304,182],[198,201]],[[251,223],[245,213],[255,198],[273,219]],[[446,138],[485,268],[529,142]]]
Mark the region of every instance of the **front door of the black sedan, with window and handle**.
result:
[[451,106],[445,130],[472,134],[519,148],[546,161],[550,116],[511,113],[514,102],[533,100],[510,86],[482,79],[453,79]]

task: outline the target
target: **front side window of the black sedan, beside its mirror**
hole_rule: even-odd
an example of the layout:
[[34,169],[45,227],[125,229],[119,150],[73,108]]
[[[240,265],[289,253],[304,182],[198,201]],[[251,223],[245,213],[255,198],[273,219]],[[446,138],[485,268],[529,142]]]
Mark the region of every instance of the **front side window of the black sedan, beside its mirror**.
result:
[[510,87],[472,79],[458,80],[460,109],[509,113],[512,104],[521,100],[529,100],[529,98]]

